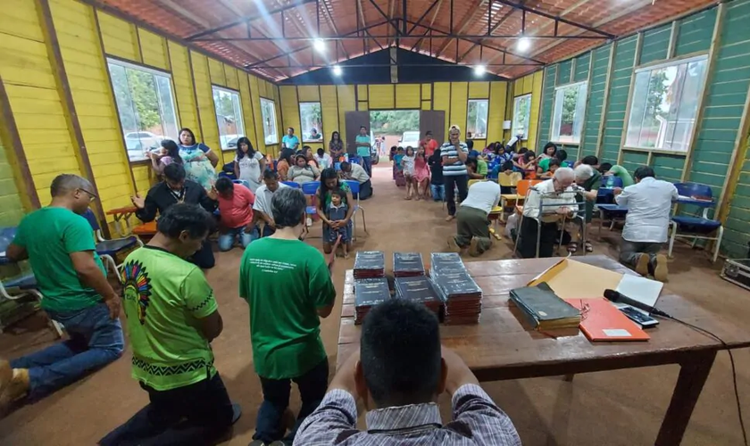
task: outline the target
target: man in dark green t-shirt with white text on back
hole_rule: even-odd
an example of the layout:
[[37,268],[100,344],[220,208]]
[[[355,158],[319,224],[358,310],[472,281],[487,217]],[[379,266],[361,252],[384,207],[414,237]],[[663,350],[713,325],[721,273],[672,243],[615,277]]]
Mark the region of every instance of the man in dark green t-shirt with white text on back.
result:
[[250,307],[253,362],[263,391],[253,446],[284,437],[281,420],[289,405],[290,381],[299,388],[302,408],[286,444],[294,441],[296,429],[318,407],[328,385],[319,318],[329,316],[336,298],[330,279],[333,253],[327,264],[321,252],[297,240],[306,205],[299,189],[273,194],[276,232],[248,245],[239,267],[239,295]]

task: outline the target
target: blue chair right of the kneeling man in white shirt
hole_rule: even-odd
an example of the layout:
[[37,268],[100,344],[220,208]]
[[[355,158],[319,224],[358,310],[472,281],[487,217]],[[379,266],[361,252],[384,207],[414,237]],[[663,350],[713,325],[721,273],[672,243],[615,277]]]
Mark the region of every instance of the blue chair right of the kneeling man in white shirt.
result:
[[[675,183],[674,186],[677,187],[677,193],[680,196],[713,199],[710,186],[698,183]],[[698,240],[715,241],[712,261],[715,262],[719,258],[719,248],[721,247],[721,238],[724,236],[724,227],[721,225],[721,221],[708,218],[708,209],[710,207],[712,205],[704,206],[701,216],[675,215],[671,218],[670,250],[667,255],[671,257],[674,239],[683,237],[691,238],[693,240],[691,246],[694,248]],[[683,234],[678,235],[678,232]],[[712,235],[714,233],[715,235]]]

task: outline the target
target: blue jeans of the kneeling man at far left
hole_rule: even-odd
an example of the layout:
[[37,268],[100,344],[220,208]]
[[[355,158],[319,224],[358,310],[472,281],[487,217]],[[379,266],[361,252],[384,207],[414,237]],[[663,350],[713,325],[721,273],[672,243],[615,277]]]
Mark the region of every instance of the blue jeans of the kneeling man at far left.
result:
[[11,361],[12,368],[29,369],[29,399],[36,400],[120,358],[123,349],[120,319],[112,320],[104,302],[77,311],[49,311],[71,338],[45,350]]

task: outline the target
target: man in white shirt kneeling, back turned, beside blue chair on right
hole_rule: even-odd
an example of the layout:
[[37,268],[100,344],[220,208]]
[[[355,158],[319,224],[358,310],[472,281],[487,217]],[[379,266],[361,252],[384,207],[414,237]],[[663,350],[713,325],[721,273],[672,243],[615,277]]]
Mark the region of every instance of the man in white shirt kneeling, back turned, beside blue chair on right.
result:
[[656,280],[667,280],[667,257],[660,254],[667,241],[672,202],[679,198],[677,187],[654,178],[654,169],[636,169],[636,184],[614,189],[614,201],[628,207],[625,227],[622,228],[620,261],[635,268],[641,276],[653,275]]

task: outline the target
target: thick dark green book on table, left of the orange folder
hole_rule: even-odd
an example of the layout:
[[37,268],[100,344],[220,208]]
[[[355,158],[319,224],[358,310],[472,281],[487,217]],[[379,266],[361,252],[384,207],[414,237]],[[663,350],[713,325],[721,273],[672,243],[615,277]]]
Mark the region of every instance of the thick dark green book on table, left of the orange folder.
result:
[[511,290],[511,302],[537,330],[577,328],[580,324],[580,310],[563,301],[544,282]]

